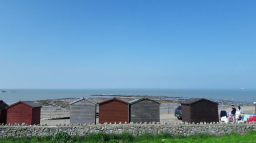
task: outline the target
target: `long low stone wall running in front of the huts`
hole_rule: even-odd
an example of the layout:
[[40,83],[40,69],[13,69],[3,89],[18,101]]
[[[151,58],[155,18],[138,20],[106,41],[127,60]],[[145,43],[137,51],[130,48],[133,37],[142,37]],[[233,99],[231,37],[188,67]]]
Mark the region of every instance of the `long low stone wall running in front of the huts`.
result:
[[248,131],[256,131],[256,123],[225,124],[225,123],[153,123],[153,124],[100,124],[100,125],[56,125],[56,126],[27,126],[27,125],[2,125],[0,126],[0,138],[20,136],[46,136],[54,135],[59,131],[67,132],[70,135],[88,135],[90,133],[115,133],[128,132],[133,135],[143,133],[160,134],[170,133],[172,135],[192,134],[215,134],[223,135],[236,132],[246,134]]

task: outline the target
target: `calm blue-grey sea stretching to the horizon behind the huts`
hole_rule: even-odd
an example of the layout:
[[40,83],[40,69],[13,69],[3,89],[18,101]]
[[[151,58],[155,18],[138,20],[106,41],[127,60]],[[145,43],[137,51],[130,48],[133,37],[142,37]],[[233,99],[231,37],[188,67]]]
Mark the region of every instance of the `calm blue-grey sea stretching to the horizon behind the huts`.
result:
[[59,98],[97,97],[92,95],[146,95],[188,98],[206,98],[214,101],[252,104],[256,89],[0,89],[0,100],[8,104]]

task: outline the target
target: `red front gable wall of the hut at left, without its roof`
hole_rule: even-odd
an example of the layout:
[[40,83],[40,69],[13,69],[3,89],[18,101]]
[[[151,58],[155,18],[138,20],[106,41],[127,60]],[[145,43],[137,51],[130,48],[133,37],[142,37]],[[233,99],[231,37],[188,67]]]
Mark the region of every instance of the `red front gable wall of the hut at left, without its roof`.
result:
[[32,107],[24,104],[17,104],[7,109],[6,124],[22,124],[26,123],[31,125],[32,120]]

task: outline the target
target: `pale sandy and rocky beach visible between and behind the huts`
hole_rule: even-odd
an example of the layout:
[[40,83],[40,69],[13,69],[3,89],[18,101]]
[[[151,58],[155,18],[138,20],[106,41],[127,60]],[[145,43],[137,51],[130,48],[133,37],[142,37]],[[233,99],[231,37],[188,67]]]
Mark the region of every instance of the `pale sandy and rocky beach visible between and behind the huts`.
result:
[[[120,97],[120,95],[112,95],[114,97]],[[136,96],[126,96],[121,97],[121,100],[124,101],[131,101]],[[77,100],[78,98],[63,98],[63,99],[48,99],[48,100],[37,100],[34,101],[42,106],[41,109],[41,124],[45,125],[56,125],[56,124],[69,124],[69,116],[70,116],[70,105],[69,103]],[[101,102],[106,99],[106,97],[95,97],[90,98],[91,100],[94,100],[96,102]],[[180,102],[184,99],[179,97],[173,97],[173,98],[166,98],[166,97],[151,97],[151,99],[155,99],[156,101],[160,102],[160,122],[166,122],[166,123],[173,123],[173,122],[182,122],[181,120],[178,120],[174,116],[174,110],[177,106],[180,105]],[[223,102],[222,102],[223,103]],[[219,104],[219,112],[221,110],[226,110],[229,112],[229,106],[227,106],[228,101],[225,102],[225,106],[222,106],[222,104]],[[254,113],[255,108],[254,105],[240,105],[243,112],[245,113]],[[98,109],[98,108],[97,108]],[[169,111],[168,111],[169,110]],[[98,112],[98,111],[97,111]],[[169,113],[168,113],[169,112]],[[50,120],[52,119],[52,120]],[[96,123],[98,123],[98,118],[96,119]]]

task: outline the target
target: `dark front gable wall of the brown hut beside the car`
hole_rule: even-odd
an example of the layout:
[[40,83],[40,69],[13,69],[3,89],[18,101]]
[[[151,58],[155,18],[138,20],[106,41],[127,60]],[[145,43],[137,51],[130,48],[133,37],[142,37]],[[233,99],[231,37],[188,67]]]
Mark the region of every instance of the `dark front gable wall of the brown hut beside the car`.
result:
[[206,100],[191,105],[191,122],[219,122],[218,104]]

